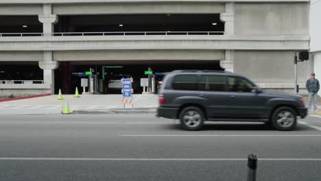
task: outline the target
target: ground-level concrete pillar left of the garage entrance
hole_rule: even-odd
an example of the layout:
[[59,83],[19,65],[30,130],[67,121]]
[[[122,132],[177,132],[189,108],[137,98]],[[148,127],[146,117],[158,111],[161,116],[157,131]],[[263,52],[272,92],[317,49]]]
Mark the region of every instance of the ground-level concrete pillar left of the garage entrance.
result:
[[52,60],[52,51],[43,51],[43,61],[39,61],[40,69],[43,69],[43,82],[50,84],[50,93],[55,93],[55,70],[58,62]]

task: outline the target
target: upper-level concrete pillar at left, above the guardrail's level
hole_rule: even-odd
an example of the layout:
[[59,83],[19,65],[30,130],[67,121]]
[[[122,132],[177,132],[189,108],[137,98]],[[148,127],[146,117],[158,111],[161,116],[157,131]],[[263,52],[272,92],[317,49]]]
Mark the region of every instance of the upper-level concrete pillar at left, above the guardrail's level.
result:
[[58,21],[58,16],[52,14],[51,4],[43,4],[43,14],[38,15],[38,20],[43,23],[43,36],[51,36],[53,24]]

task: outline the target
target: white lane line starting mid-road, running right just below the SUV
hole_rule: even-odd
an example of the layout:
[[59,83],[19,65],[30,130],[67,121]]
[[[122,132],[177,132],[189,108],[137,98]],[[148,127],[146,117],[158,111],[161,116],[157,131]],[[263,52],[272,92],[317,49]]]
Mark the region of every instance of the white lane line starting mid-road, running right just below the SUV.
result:
[[119,136],[216,136],[216,137],[224,137],[224,136],[269,136],[269,137],[279,137],[279,136],[298,136],[298,137],[313,137],[313,136],[321,136],[321,134],[120,134]]

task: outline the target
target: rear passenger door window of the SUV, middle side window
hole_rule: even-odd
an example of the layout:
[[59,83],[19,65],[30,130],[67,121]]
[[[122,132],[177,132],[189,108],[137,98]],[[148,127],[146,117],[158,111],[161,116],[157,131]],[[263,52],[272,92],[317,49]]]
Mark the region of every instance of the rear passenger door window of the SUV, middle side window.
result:
[[200,90],[225,91],[225,83],[222,75],[200,75]]

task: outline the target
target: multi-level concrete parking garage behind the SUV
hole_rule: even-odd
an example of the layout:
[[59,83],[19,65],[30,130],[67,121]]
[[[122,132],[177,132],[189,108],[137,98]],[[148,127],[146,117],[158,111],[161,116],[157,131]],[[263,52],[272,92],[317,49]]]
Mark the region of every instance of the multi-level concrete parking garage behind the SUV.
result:
[[[76,73],[95,69],[102,80],[106,66],[136,80],[148,68],[227,70],[290,92],[294,52],[309,49],[308,14],[309,0],[0,0],[0,80],[20,80],[0,93],[72,93]],[[301,88],[312,70],[299,64]]]

